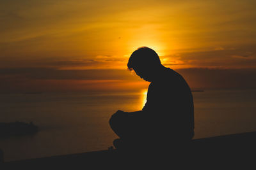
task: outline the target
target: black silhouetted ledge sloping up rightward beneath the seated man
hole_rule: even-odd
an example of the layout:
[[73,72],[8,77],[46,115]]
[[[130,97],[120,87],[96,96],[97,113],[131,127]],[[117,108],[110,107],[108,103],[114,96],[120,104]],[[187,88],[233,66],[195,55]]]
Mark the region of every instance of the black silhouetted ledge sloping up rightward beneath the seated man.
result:
[[[8,169],[239,169],[256,167],[256,132],[194,139],[188,145],[158,150],[102,150],[4,162]],[[0,168],[1,169],[1,168]]]

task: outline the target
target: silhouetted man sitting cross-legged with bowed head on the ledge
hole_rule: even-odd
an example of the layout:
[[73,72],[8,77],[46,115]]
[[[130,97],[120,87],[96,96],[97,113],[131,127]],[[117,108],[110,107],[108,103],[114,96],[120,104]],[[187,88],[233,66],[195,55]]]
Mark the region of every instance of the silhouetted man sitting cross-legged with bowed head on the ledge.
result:
[[193,96],[184,78],[164,67],[148,47],[134,51],[127,66],[151,83],[141,111],[119,110],[110,118],[111,128],[120,137],[114,146],[165,147],[190,141],[194,136]]

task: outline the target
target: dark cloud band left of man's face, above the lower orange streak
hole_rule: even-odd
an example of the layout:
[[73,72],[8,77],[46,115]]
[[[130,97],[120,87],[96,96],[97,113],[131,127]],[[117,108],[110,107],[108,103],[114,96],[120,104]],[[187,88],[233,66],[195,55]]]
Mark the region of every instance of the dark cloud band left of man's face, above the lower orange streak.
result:
[[127,69],[86,69],[60,70],[54,68],[4,68],[0,69],[1,76],[33,79],[33,80],[140,80]]

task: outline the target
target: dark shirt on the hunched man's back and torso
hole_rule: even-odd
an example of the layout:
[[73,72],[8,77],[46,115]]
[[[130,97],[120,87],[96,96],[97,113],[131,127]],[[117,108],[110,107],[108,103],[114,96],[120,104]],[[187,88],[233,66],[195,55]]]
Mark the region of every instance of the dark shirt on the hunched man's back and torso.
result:
[[170,68],[163,69],[150,83],[143,113],[156,134],[176,139],[191,139],[194,136],[191,90],[184,78]]

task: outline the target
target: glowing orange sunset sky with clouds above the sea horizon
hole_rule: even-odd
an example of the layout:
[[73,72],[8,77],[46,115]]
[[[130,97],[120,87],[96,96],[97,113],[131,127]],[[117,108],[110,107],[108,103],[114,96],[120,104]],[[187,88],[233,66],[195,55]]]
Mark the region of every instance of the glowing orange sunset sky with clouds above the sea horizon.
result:
[[140,46],[192,89],[256,87],[256,1],[1,0],[0,92],[140,90]]

